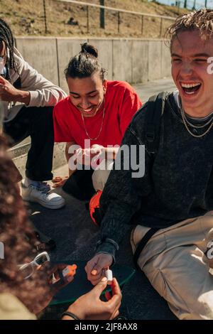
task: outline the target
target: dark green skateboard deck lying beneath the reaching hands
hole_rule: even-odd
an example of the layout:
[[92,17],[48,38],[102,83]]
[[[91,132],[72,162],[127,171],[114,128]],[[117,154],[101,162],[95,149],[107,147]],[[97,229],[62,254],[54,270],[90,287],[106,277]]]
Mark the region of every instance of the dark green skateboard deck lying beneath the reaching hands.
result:
[[[59,262],[52,263],[58,264]],[[50,306],[62,303],[73,303],[77,298],[82,296],[84,293],[91,291],[94,287],[87,280],[87,274],[84,270],[84,266],[86,266],[87,261],[61,261],[60,264],[76,264],[77,270],[73,281],[67,284],[67,286],[65,286],[64,288],[60,289],[58,293],[56,293],[56,295],[50,302]],[[119,286],[121,287],[126,284],[135,273],[135,269],[122,264],[114,264],[114,266],[111,267],[111,271],[113,273],[113,276],[119,282]],[[104,294],[106,291],[111,291],[111,287],[108,286],[102,294]]]

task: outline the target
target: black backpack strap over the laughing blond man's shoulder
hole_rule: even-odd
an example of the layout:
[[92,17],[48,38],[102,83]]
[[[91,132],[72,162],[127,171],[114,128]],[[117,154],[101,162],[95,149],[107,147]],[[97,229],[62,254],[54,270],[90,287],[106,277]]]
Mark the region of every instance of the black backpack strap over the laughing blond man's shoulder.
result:
[[148,153],[156,153],[159,146],[160,120],[164,112],[168,92],[160,92],[148,99],[145,117],[144,143]]

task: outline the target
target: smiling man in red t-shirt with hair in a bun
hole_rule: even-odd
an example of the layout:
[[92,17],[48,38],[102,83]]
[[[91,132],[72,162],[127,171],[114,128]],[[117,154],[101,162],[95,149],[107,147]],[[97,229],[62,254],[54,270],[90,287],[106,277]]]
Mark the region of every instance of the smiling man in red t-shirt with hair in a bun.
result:
[[107,81],[104,72],[97,50],[84,43],[65,70],[70,97],[53,111],[55,141],[67,143],[70,178],[63,189],[80,199],[104,188],[126,127],[141,107],[131,85]]

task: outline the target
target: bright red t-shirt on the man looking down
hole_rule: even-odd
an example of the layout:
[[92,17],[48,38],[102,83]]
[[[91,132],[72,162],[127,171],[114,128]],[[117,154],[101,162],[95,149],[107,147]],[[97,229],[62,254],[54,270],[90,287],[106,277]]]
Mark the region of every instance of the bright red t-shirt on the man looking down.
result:
[[[133,115],[141,107],[142,103],[133,87],[127,82],[107,81],[107,92],[104,96],[105,116],[102,125],[103,109],[100,109],[94,117],[84,117],[87,133],[95,138],[91,145],[99,144],[120,145],[127,126]],[[55,142],[72,142],[84,149],[84,139],[89,139],[84,129],[80,111],[66,97],[55,105],[53,110],[53,122]]]

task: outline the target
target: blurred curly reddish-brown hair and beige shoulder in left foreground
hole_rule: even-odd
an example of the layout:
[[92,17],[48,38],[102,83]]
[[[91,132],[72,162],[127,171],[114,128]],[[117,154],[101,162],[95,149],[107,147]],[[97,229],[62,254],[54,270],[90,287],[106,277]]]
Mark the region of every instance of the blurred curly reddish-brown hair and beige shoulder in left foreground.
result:
[[[0,241],[4,244],[4,259],[0,259],[0,314],[9,311],[13,318],[14,312],[20,316],[21,311],[23,318],[35,318],[23,308],[19,301],[29,311],[38,313],[43,304],[43,296],[50,293],[50,289],[43,271],[37,271],[29,279],[23,279],[23,274],[18,267],[18,264],[31,262],[32,257],[35,257],[38,241],[28,222],[16,180],[17,170],[6,153],[6,139],[1,134]],[[17,301],[16,298],[18,298]],[[16,303],[18,310],[16,310]]]

